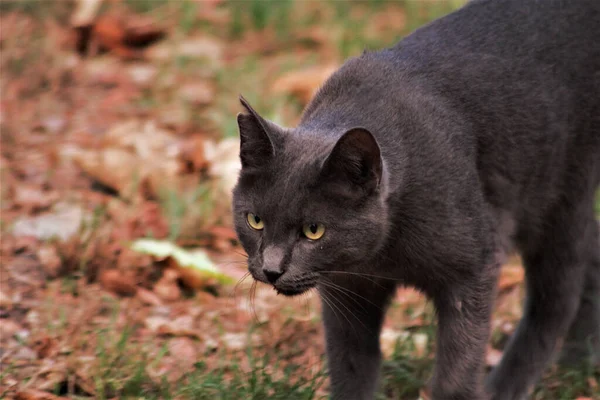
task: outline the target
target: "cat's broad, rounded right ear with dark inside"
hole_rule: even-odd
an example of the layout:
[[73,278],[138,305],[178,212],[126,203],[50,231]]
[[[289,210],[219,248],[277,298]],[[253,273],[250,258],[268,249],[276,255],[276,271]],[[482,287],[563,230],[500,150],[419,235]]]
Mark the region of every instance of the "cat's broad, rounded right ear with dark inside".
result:
[[338,139],[323,164],[322,174],[372,193],[379,187],[382,171],[381,151],[375,137],[364,128],[353,128]]

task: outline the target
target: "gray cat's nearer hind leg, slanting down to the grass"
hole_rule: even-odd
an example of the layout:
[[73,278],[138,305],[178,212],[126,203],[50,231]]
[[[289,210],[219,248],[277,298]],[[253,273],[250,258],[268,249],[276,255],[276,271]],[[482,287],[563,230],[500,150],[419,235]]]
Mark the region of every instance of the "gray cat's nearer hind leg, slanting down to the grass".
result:
[[523,318],[487,380],[494,400],[526,399],[578,312],[589,246],[597,229],[589,204],[564,200],[549,214],[535,245],[522,248],[527,272]]

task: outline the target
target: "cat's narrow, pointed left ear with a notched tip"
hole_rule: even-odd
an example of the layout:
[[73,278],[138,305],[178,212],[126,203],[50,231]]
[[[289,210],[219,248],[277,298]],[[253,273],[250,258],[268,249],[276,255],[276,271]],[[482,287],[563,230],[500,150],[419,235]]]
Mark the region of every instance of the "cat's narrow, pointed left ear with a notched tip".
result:
[[273,157],[275,151],[268,132],[270,124],[258,115],[242,96],[240,103],[248,111],[248,114],[237,115],[242,168],[263,166]]

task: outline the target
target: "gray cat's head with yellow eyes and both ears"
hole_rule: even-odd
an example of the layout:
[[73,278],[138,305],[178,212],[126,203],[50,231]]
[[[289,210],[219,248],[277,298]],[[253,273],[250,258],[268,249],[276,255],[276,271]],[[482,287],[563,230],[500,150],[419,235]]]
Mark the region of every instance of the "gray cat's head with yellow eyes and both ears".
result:
[[[241,98],[235,229],[254,279],[284,295],[364,266],[387,234],[384,165],[364,128],[285,129]],[[338,139],[336,139],[338,138]]]

